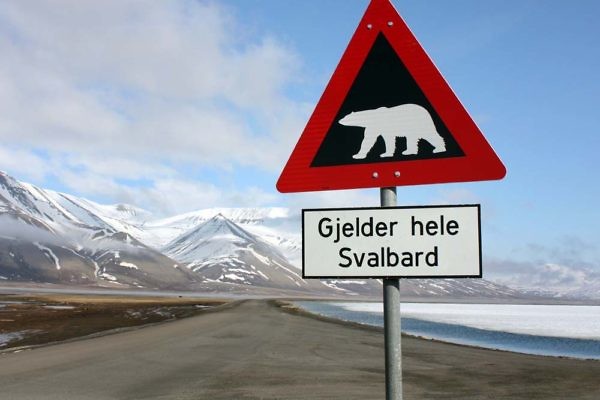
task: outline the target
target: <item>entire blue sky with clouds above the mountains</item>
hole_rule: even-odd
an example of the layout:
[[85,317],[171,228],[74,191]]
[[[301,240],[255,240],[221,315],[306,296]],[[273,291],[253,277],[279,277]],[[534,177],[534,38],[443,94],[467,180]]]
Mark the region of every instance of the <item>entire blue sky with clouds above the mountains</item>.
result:
[[[481,203],[499,276],[600,273],[600,3],[393,3],[508,170],[399,188],[399,202]],[[157,215],[377,205],[375,189],[275,190],[367,4],[4,2],[0,169]]]

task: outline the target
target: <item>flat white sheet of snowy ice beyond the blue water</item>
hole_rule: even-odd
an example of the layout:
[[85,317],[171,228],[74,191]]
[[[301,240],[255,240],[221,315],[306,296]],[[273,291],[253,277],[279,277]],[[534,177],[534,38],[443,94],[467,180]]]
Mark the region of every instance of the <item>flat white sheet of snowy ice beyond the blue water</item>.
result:
[[[383,313],[382,303],[333,303]],[[600,339],[600,306],[402,303],[403,317],[537,336]]]

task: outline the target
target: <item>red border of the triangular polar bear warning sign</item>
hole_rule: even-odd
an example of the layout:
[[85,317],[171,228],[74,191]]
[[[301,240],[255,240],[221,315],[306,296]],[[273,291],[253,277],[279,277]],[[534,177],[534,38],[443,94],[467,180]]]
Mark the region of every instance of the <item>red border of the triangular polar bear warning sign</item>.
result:
[[[311,167],[378,34],[438,113],[463,157]],[[372,0],[277,182],[282,193],[502,179],[506,168],[389,0]]]

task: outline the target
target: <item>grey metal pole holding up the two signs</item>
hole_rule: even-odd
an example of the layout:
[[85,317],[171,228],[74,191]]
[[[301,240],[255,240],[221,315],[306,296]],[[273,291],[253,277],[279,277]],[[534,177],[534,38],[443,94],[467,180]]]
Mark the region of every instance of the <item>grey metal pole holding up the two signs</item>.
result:
[[[381,207],[397,204],[396,188],[380,189]],[[402,400],[402,347],[400,336],[400,280],[383,280],[383,327],[385,335],[385,398]]]

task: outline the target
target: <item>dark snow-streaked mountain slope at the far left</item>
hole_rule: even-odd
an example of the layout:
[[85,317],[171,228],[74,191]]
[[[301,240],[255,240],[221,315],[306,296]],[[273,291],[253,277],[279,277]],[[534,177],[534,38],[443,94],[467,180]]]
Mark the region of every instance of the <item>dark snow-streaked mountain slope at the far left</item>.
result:
[[187,288],[193,274],[135,237],[139,230],[129,221],[142,213],[40,189],[0,172],[0,280]]

